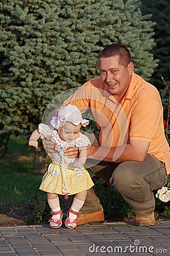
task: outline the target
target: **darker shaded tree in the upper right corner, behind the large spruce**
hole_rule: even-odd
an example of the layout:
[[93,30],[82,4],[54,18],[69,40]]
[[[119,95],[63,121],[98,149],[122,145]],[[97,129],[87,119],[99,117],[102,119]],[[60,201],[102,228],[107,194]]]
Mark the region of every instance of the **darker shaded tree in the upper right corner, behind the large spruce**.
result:
[[154,26],[156,46],[152,53],[155,59],[159,59],[159,65],[155,67],[151,82],[158,89],[164,88],[161,77],[170,81],[170,1],[142,0],[141,10],[143,14],[152,14],[151,20],[156,22]]

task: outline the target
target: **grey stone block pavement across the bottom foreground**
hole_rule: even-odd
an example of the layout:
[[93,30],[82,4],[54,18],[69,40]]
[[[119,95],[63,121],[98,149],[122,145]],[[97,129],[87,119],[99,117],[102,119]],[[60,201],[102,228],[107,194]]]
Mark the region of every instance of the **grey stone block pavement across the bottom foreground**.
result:
[[170,255],[170,221],[137,227],[105,222],[76,229],[48,225],[0,227],[0,256]]

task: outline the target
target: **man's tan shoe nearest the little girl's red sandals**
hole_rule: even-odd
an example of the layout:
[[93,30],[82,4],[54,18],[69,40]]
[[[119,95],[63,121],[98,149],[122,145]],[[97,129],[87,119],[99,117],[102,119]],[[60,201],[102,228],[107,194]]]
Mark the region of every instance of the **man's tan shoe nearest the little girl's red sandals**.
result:
[[89,214],[78,214],[78,224],[83,225],[90,222],[104,221],[104,212],[103,210],[97,210],[97,212]]

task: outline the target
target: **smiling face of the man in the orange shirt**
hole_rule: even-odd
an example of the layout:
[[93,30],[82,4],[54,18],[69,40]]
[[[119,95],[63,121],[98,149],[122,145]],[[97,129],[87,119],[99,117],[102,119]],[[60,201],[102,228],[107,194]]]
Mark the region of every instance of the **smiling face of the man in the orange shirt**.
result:
[[128,64],[128,67],[120,64],[118,55],[108,58],[100,57],[99,59],[101,80],[107,86],[108,92],[117,96],[117,99],[124,96],[131,80],[133,68],[132,62]]

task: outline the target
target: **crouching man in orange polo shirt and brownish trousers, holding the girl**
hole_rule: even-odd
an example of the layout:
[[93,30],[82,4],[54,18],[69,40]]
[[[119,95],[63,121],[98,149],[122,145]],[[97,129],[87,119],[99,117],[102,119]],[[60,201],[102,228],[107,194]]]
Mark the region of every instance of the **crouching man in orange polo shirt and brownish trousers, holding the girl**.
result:
[[[167,183],[170,153],[164,135],[163,108],[158,90],[133,72],[129,50],[111,44],[99,55],[100,77],[82,85],[65,104],[82,113],[91,109],[99,144],[88,148],[87,167],[109,181],[135,212],[138,226],[155,225],[153,190]],[[44,140],[50,154],[54,144]],[[76,148],[65,151],[78,155]],[[104,220],[93,189],[78,215],[78,224]]]

